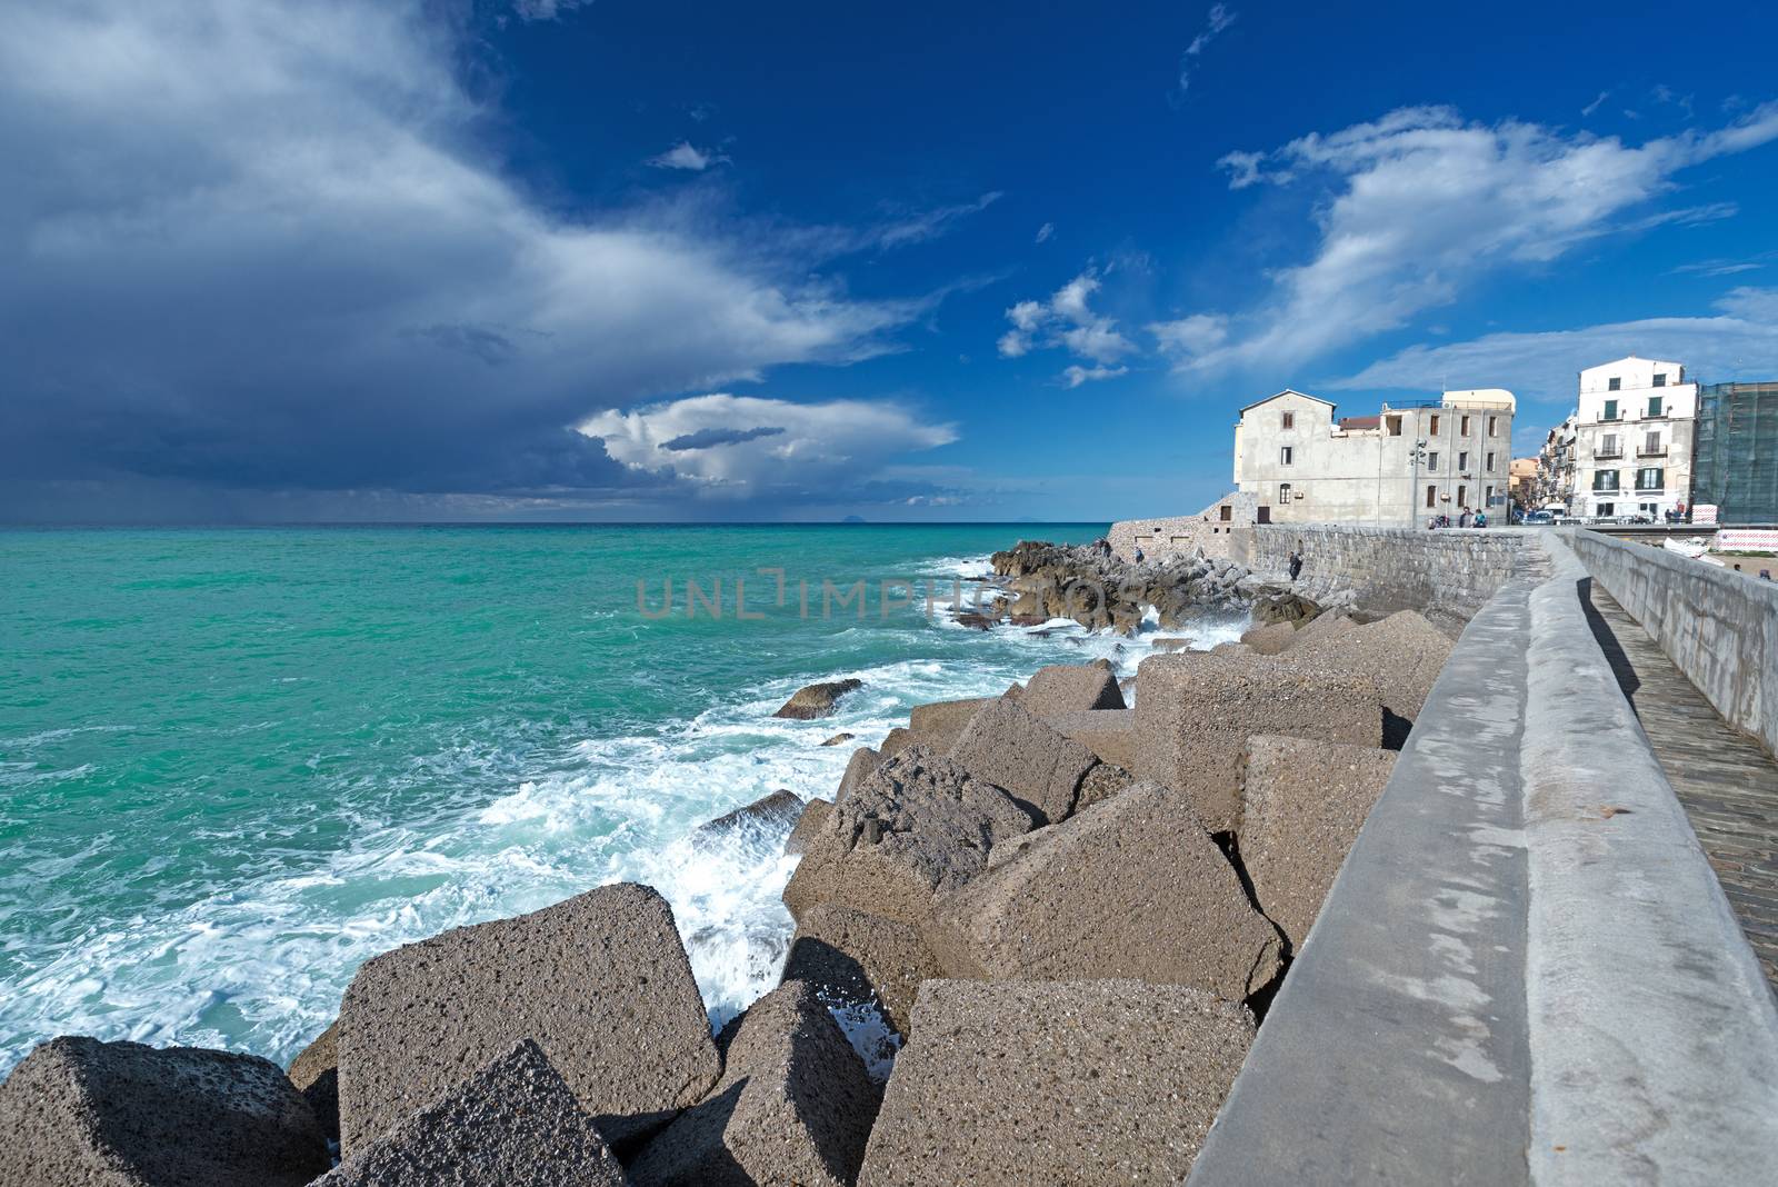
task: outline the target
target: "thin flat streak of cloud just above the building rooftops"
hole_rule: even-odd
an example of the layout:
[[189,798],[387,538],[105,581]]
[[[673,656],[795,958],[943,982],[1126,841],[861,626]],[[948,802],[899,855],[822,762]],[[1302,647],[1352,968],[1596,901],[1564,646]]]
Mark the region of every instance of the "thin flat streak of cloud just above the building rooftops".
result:
[[1572,400],[1575,375],[1641,355],[1684,362],[1705,382],[1778,377],[1778,288],[1735,288],[1718,316],[1641,318],[1574,331],[1486,334],[1442,347],[1410,347],[1326,387],[1508,387],[1522,398]]

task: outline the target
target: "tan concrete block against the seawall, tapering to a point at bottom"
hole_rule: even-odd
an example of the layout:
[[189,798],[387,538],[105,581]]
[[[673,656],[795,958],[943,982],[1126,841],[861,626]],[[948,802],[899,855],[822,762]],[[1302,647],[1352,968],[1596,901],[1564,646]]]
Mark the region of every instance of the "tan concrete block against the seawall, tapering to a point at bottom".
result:
[[1396,769],[1369,746],[1248,739],[1241,862],[1259,910],[1301,951],[1334,876]]

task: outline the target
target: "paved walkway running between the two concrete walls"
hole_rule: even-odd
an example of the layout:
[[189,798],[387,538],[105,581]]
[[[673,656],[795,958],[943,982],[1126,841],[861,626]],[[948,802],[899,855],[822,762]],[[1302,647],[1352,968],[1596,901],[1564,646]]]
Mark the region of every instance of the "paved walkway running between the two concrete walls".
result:
[[1593,638],[1778,993],[1778,762],[1723,721],[1611,594],[1590,585]]

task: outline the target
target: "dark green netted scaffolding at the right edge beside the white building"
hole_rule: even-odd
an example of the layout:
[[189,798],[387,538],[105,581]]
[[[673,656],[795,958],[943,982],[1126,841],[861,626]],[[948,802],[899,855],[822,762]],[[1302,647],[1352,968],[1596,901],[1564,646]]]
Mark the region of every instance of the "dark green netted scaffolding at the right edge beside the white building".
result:
[[1691,498],[1721,524],[1778,524],[1778,382],[1698,389]]

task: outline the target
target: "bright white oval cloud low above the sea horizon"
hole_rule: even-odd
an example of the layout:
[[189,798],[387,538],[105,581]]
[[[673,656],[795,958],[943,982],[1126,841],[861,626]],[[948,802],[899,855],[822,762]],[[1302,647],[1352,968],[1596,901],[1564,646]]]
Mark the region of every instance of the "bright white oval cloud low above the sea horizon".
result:
[[[884,480],[893,458],[957,441],[885,402],[793,403],[715,393],[608,409],[580,432],[633,471],[672,476],[724,499],[795,499],[852,492]],[[898,496],[909,498],[909,496]]]

